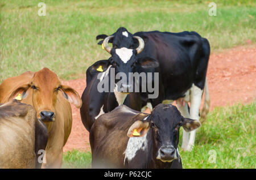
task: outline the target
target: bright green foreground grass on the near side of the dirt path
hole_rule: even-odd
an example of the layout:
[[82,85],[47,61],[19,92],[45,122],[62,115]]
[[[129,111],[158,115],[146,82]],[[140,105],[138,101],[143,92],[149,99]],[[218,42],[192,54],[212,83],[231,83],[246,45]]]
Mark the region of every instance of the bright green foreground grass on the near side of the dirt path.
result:
[[[183,168],[256,168],[256,103],[215,108],[197,130],[191,152],[180,150]],[[182,134],[182,130],[180,130]],[[180,135],[180,144],[181,144]],[[179,145],[180,147],[180,145]],[[211,163],[210,152],[216,152]],[[90,168],[91,153],[73,150],[63,157],[63,168]]]

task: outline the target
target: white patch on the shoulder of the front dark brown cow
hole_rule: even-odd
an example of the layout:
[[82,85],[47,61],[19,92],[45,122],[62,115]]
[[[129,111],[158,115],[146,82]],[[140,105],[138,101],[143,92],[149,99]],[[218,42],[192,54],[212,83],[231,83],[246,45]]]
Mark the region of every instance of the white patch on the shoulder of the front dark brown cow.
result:
[[131,137],[128,140],[127,147],[125,149],[125,159],[123,160],[123,164],[125,164],[125,160],[131,161],[135,156],[139,149],[145,151],[147,147],[147,133],[142,137]]

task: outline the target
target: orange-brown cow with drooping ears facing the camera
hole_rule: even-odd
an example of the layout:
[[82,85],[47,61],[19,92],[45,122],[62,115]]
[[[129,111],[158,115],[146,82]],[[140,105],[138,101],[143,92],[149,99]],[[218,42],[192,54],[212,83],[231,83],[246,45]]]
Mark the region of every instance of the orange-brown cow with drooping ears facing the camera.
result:
[[81,108],[79,94],[68,85],[61,84],[57,75],[48,68],[4,80],[0,85],[0,94],[0,102],[19,96],[21,102],[35,108],[36,117],[45,123],[48,130],[42,168],[60,168],[63,147],[72,127],[69,102]]

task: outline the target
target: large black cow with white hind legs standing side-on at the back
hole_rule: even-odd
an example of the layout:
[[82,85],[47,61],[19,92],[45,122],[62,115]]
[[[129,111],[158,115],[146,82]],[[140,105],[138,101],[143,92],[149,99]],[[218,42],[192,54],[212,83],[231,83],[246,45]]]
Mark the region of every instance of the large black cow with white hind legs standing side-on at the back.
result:
[[[204,105],[201,110],[202,122],[209,112],[210,98],[207,85],[207,67],[210,45],[206,38],[196,32],[136,32],[131,34],[126,28],[119,28],[111,36],[98,35],[97,40],[112,56],[110,63],[117,67],[117,72],[134,72],[141,59],[150,57],[159,62],[159,91],[158,98],[144,99],[143,105],[150,103],[152,108],[159,102],[177,102],[177,107],[186,118],[199,119],[200,103],[205,90]],[[108,42],[113,44],[110,48]],[[138,47],[138,48],[136,48]],[[127,84],[126,87],[132,87]],[[160,98],[160,100],[159,100]],[[188,102],[191,107],[189,108]],[[191,151],[195,143],[196,131],[190,136],[184,131],[184,150]]]

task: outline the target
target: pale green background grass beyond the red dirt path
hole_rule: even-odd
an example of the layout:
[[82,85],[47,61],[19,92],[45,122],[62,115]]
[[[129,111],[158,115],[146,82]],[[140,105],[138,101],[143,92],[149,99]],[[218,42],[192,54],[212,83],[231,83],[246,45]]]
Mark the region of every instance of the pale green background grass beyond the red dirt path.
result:
[[24,71],[48,67],[61,79],[84,78],[93,62],[109,58],[96,36],[126,27],[137,31],[196,31],[212,50],[256,40],[255,1],[44,1],[0,2],[0,82]]

